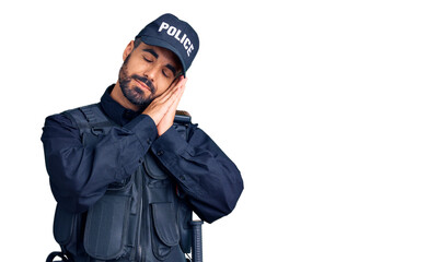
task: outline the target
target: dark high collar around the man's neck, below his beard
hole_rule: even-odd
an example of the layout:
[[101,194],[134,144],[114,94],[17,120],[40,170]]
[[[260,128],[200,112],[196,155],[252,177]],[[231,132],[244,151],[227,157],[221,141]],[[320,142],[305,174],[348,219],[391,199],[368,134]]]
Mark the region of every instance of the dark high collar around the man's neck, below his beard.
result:
[[119,103],[114,100],[111,96],[113,87],[115,84],[112,84],[107,87],[104,95],[101,97],[101,107],[104,112],[119,126],[125,126],[130,122],[134,118],[141,115],[141,111],[134,111],[123,107]]

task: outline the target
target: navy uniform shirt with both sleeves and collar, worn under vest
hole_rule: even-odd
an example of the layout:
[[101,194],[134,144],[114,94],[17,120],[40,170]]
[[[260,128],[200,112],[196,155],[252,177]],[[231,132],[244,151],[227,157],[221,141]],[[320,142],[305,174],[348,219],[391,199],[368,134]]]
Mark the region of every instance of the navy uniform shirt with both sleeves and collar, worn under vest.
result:
[[91,148],[82,145],[78,127],[63,114],[46,118],[42,141],[58,204],[74,213],[85,212],[109,183],[129,177],[152,151],[201,219],[212,223],[232,212],[243,181],[220,147],[196,124],[190,127],[188,141],[174,128],[158,136],[149,116],[126,109],[111,97],[113,86],[100,104],[118,127]]

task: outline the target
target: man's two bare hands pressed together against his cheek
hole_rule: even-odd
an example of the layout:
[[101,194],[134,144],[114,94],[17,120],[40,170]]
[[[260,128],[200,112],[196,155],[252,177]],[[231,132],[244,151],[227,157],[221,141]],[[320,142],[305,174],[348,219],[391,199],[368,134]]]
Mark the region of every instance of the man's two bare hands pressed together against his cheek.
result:
[[181,76],[173,86],[154,98],[142,112],[153,119],[158,127],[159,135],[162,135],[172,126],[186,82],[187,79]]

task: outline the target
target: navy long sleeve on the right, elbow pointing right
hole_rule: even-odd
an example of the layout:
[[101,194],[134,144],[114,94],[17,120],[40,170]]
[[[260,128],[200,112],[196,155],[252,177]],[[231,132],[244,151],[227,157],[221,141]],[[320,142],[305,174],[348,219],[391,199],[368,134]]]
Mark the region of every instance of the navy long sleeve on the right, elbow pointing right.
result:
[[235,207],[243,191],[240,170],[201,129],[193,126],[187,142],[170,128],[151,150],[201,219],[212,223]]

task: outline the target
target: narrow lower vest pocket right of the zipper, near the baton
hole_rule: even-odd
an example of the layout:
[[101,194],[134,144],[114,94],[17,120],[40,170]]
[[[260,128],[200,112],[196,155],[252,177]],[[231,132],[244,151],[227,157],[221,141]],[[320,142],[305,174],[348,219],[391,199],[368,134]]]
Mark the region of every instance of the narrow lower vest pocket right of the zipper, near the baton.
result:
[[159,260],[165,260],[174,246],[178,245],[180,234],[176,223],[176,213],[173,203],[151,204],[152,225],[152,250]]

